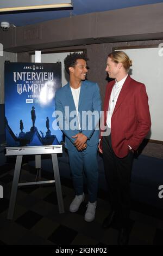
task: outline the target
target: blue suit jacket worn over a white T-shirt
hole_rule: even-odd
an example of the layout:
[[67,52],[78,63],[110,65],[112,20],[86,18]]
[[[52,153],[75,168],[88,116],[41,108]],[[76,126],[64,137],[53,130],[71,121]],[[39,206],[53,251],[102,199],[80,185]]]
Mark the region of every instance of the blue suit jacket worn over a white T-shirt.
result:
[[[77,111],[69,82],[55,93],[55,110],[59,127],[65,134],[66,148],[71,151],[76,150],[76,147],[73,145],[74,140],[76,139],[73,139],[72,136],[79,133],[79,127],[77,126]],[[60,111],[59,115],[57,111]],[[86,111],[89,111],[87,112],[87,115]],[[82,81],[78,105],[81,127],[80,132],[87,136],[88,139],[86,143],[89,146],[95,146],[99,142],[99,129],[97,128],[100,111],[101,96],[98,85],[95,82],[87,80]],[[75,129],[72,128],[70,124],[74,124]]]

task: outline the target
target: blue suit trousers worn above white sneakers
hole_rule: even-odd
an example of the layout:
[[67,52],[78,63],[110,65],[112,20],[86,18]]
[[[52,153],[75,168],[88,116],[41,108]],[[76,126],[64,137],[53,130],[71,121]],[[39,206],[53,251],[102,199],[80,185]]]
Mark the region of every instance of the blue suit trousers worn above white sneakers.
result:
[[97,200],[98,191],[98,163],[97,163],[97,145],[86,150],[70,151],[68,150],[70,169],[72,174],[73,186],[76,195],[83,194],[83,171],[86,176],[87,190],[90,203]]

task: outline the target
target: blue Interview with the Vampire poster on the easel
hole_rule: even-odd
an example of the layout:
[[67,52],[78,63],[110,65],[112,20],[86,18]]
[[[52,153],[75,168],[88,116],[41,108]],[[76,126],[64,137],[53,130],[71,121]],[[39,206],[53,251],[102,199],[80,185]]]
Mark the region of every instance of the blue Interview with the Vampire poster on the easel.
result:
[[59,145],[54,97],[61,64],[5,63],[4,83],[7,146]]

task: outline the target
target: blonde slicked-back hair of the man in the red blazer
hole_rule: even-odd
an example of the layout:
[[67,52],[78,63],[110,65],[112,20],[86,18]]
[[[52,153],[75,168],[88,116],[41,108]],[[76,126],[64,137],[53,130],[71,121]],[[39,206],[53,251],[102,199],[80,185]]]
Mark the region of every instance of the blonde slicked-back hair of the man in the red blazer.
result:
[[124,51],[113,51],[109,53],[108,57],[110,57],[115,63],[122,63],[127,72],[132,66],[131,59],[129,59],[128,55]]

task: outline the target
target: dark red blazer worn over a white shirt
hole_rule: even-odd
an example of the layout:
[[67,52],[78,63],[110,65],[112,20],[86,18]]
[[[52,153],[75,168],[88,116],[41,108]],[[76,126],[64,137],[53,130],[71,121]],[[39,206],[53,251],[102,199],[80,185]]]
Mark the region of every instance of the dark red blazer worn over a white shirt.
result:
[[[106,111],[115,81],[108,83],[104,100],[104,124],[106,125]],[[144,84],[127,76],[118,96],[114,112],[111,117],[111,144],[117,157],[126,157],[130,145],[137,150],[151,127],[148,96]],[[100,147],[102,149],[102,131]]]

